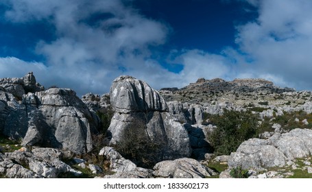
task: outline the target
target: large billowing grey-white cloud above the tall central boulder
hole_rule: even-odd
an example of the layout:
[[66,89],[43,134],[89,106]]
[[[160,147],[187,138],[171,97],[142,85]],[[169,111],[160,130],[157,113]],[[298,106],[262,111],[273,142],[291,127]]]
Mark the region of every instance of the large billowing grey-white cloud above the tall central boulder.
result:
[[[146,19],[118,0],[5,0],[4,3],[11,8],[5,12],[8,21],[25,24],[46,21],[55,27],[56,39],[40,40],[36,53],[47,58],[45,64],[55,84],[74,88],[80,95],[86,90],[108,91],[112,80],[124,72],[147,73],[145,60],[151,54],[149,47],[165,43],[168,33],[167,25]],[[156,68],[159,70],[148,76],[167,73],[159,66]]]

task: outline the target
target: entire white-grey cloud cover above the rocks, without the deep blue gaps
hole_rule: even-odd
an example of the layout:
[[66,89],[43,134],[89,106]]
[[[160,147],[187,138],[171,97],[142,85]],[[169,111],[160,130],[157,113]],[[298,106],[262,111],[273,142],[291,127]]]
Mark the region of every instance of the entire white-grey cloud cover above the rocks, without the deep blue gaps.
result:
[[312,1],[245,1],[257,8],[259,17],[235,26],[238,48],[225,47],[220,53],[173,49],[162,56],[154,50],[166,45],[174,29],[125,1],[4,0],[1,23],[47,23],[53,37],[34,42],[32,51],[43,61],[0,58],[0,77],[34,71],[41,84],[73,88],[78,95],[107,93],[112,80],[123,74],[154,88],[182,87],[199,77],[262,77],[279,86],[312,90]]

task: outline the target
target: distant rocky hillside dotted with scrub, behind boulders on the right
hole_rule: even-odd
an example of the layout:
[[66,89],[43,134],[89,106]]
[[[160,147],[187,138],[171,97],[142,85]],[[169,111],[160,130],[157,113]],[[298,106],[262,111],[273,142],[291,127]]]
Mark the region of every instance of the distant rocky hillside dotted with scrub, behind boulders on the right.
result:
[[[310,93],[298,93],[293,88],[280,88],[273,82],[263,79],[235,79],[226,82],[222,79],[205,80],[200,78],[184,88],[162,88],[166,101],[181,101],[190,104],[231,103],[237,106],[258,104],[283,105],[285,101],[299,104],[310,97]],[[311,98],[311,97],[310,97]]]

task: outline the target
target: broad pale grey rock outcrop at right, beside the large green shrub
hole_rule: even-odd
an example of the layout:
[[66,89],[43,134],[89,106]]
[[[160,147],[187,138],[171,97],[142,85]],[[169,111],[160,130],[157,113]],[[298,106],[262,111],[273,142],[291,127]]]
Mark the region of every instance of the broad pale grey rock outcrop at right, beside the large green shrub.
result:
[[249,139],[241,143],[228,160],[229,167],[243,169],[283,167],[289,160],[312,154],[312,130],[295,129],[276,133],[269,139]]

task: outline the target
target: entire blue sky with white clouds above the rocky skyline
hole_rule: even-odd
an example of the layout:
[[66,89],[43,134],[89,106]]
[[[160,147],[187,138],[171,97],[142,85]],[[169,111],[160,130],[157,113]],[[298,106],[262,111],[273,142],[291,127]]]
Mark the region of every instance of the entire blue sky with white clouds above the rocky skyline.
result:
[[154,88],[261,77],[312,90],[310,0],[3,0],[0,78],[108,93],[132,75]]

